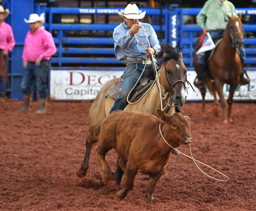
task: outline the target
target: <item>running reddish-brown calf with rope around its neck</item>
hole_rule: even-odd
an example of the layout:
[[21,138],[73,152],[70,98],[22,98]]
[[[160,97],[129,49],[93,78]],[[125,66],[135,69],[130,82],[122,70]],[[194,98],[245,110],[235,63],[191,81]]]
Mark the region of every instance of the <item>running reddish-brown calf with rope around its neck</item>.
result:
[[[191,143],[189,123],[180,114],[166,115],[157,109],[157,116],[147,113],[115,111],[102,122],[99,133],[99,145],[96,149],[98,161],[103,167],[104,184],[111,178],[111,170],[106,163],[106,153],[114,148],[118,154],[118,163],[126,176],[125,187],[117,192],[117,197],[124,198],[133,188],[134,177],[138,172],[151,175],[147,185],[147,203],[152,204],[152,194],[156,183],[163,175],[170,159],[172,146]],[[99,125],[92,126],[91,138],[97,138]],[[96,132],[95,132],[96,131]]]

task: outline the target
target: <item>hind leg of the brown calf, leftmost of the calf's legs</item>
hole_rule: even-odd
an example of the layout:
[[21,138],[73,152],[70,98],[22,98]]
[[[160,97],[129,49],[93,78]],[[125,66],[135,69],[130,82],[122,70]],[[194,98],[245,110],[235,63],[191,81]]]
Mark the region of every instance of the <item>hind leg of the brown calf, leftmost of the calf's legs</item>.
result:
[[109,180],[111,179],[111,169],[105,160],[106,153],[110,149],[112,149],[112,147],[103,144],[103,145],[99,145],[95,150],[97,160],[99,161],[99,163],[103,168],[102,182],[104,183],[104,185],[107,185]]

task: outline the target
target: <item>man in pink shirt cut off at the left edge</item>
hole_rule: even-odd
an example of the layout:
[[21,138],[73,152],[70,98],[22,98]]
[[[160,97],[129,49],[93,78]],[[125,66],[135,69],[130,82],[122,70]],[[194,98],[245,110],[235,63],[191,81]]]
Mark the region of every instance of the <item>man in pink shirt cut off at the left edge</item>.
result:
[[9,15],[9,10],[0,6],[0,101],[5,99],[8,81],[7,62],[8,52],[12,52],[15,45],[12,28],[4,19]]

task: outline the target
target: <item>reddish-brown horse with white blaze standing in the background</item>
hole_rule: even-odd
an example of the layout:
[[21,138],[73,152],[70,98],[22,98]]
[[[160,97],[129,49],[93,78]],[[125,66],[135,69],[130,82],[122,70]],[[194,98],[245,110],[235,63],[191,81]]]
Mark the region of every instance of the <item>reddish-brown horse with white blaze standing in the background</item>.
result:
[[[208,70],[206,71],[205,84],[208,86],[209,91],[214,96],[214,111],[218,113],[218,99],[217,93],[220,97],[220,104],[223,110],[222,120],[224,122],[230,121],[231,118],[231,106],[233,103],[234,92],[240,82],[240,74],[242,70],[241,59],[237,48],[242,47],[244,44],[243,40],[243,24],[241,22],[241,15],[239,17],[229,17],[223,39],[220,41],[218,46],[212,55],[210,61],[208,61]],[[195,46],[197,46],[198,41]],[[196,54],[196,47],[194,51],[194,67],[198,73],[198,55]],[[212,82],[214,80],[214,82]],[[223,94],[223,85],[227,83],[230,85],[229,97],[227,101]],[[206,88],[203,86],[201,89],[202,94],[202,113],[205,112],[205,92]],[[228,104],[228,112],[226,107]]]

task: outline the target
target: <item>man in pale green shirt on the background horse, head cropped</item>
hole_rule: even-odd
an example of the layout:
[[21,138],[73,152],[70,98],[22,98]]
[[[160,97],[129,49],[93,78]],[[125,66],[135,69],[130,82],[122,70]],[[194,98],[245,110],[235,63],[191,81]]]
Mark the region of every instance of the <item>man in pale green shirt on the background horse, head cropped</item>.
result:
[[[224,35],[229,16],[237,16],[235,6],[228,0],[208,0],[205,2],[203,8],[196,16],[197,24],[202,28],[203,33],[209,32],[211,37],[217,35]],[[204,41],[207,40],[207,36]],[[245,60],[245,49],[239,48],[240,59],[242,62],[242,73],[240,76],[240,84],[246,85],[250,82],[249,78],[244,78],[244,60]],[[200,87],[203,85],[204,69],[203,63],[205,59],[205,52],[198,55],[199,73],[198,81],[195,85]]]

